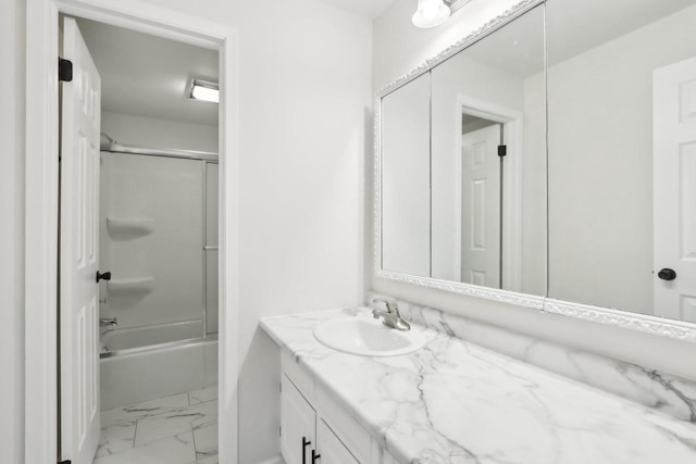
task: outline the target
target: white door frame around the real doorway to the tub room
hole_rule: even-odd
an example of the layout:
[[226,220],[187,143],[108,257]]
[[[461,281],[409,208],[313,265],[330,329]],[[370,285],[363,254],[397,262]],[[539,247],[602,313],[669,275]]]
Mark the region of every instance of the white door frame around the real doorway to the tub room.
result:
[[27,0],[25,462],[58,460],[59,13],[220,53],[220,462],[236,464],[238,379],[238,32],[137,0]]

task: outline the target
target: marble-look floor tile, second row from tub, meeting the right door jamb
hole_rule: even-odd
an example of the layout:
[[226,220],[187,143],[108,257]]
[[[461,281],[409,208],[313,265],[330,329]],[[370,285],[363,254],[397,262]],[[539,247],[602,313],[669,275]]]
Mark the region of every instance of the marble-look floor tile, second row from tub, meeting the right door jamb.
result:
[[161,438],[190,431],[217,422],[217,401],[181,407],[138,421],[135,446],[139,447]]

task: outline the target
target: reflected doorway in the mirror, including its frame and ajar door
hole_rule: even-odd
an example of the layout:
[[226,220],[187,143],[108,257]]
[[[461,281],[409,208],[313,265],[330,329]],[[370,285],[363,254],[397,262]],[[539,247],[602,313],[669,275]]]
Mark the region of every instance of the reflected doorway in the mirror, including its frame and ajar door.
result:
[[458,95],[453,274],[521,290],[523,115]]

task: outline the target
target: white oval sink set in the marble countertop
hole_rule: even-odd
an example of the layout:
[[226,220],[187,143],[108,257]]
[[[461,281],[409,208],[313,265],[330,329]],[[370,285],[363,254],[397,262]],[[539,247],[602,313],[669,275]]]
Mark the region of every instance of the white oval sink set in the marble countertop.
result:
[[362,356],[398,356],[421,349],[426,337],[419,330],[396,330],[381,321],[344,317],[314,327],[314,338],[334,350]]

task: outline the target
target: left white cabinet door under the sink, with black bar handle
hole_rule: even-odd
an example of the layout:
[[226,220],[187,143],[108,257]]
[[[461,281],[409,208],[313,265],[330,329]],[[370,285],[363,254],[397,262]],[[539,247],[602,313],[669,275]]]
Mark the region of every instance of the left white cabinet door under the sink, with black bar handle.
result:
[[285,375],[281,381],[281,452],[286,464],[309,464],[316,442],[316,413]]

